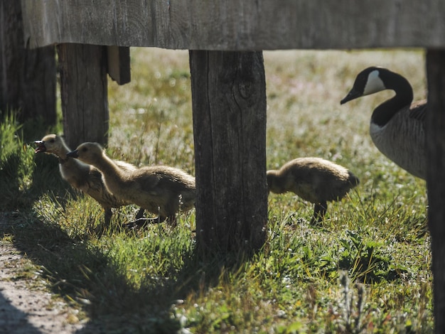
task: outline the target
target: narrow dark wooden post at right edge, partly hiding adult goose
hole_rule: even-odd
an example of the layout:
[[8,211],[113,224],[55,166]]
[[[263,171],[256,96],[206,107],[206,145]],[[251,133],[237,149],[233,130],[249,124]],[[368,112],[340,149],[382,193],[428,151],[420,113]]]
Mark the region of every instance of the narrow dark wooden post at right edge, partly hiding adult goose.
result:
[[427,189],[434,332],[445,333],[445,49],[427,50]]

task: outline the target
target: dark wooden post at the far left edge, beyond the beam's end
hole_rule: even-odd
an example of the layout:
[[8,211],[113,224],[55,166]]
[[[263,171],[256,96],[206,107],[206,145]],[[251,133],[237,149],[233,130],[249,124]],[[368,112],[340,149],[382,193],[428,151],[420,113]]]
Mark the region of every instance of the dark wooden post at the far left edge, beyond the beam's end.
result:
[[26,48],[20,1],[0,1],[0,110],[53,125],[55,83],[54,47]]

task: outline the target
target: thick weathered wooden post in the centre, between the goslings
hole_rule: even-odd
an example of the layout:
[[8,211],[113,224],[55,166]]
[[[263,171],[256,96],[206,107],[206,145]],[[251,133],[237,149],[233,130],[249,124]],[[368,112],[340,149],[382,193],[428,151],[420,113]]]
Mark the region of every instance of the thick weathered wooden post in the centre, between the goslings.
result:
[[193,50],[190,68],[198,247],[259,249],[267,223],[262,52]]

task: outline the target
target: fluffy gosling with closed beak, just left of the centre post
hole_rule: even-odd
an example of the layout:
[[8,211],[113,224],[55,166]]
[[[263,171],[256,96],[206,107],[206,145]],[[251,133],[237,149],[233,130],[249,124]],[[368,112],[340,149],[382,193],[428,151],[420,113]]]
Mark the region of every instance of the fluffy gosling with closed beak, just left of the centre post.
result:
[[110,193],[159,214],[159,220],[176,225],[176,212],[195,205],[195,178],[168,166],[145,166],[134,171],[119,168],[97,143],[83,143],[68,153],[98,168]]

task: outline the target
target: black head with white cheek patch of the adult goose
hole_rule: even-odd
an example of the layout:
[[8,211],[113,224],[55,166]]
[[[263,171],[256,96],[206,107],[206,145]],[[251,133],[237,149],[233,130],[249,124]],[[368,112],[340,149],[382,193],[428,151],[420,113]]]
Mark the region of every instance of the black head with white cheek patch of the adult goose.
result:
[[352,99],[386,90],[385,82],[383,82],[380,76],[382,71],[385,71],[385,69],[372,66],[358,73],[352,89],[348,92],[348,95],[341,100],[340,104],[345,104]]

